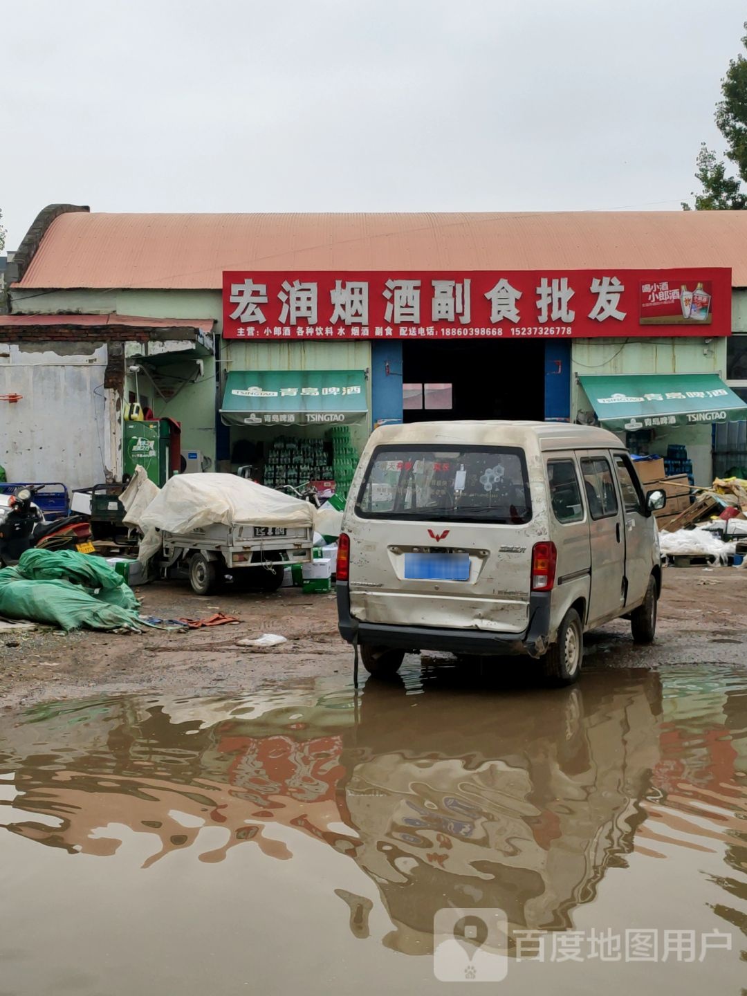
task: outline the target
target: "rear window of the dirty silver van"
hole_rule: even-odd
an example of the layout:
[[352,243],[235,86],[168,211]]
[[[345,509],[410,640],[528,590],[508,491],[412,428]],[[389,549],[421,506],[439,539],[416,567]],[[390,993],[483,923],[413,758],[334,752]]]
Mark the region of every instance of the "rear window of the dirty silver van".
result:
[[378,446],[356,504],[365,519],[519,524],[532,518],[521,449]]

